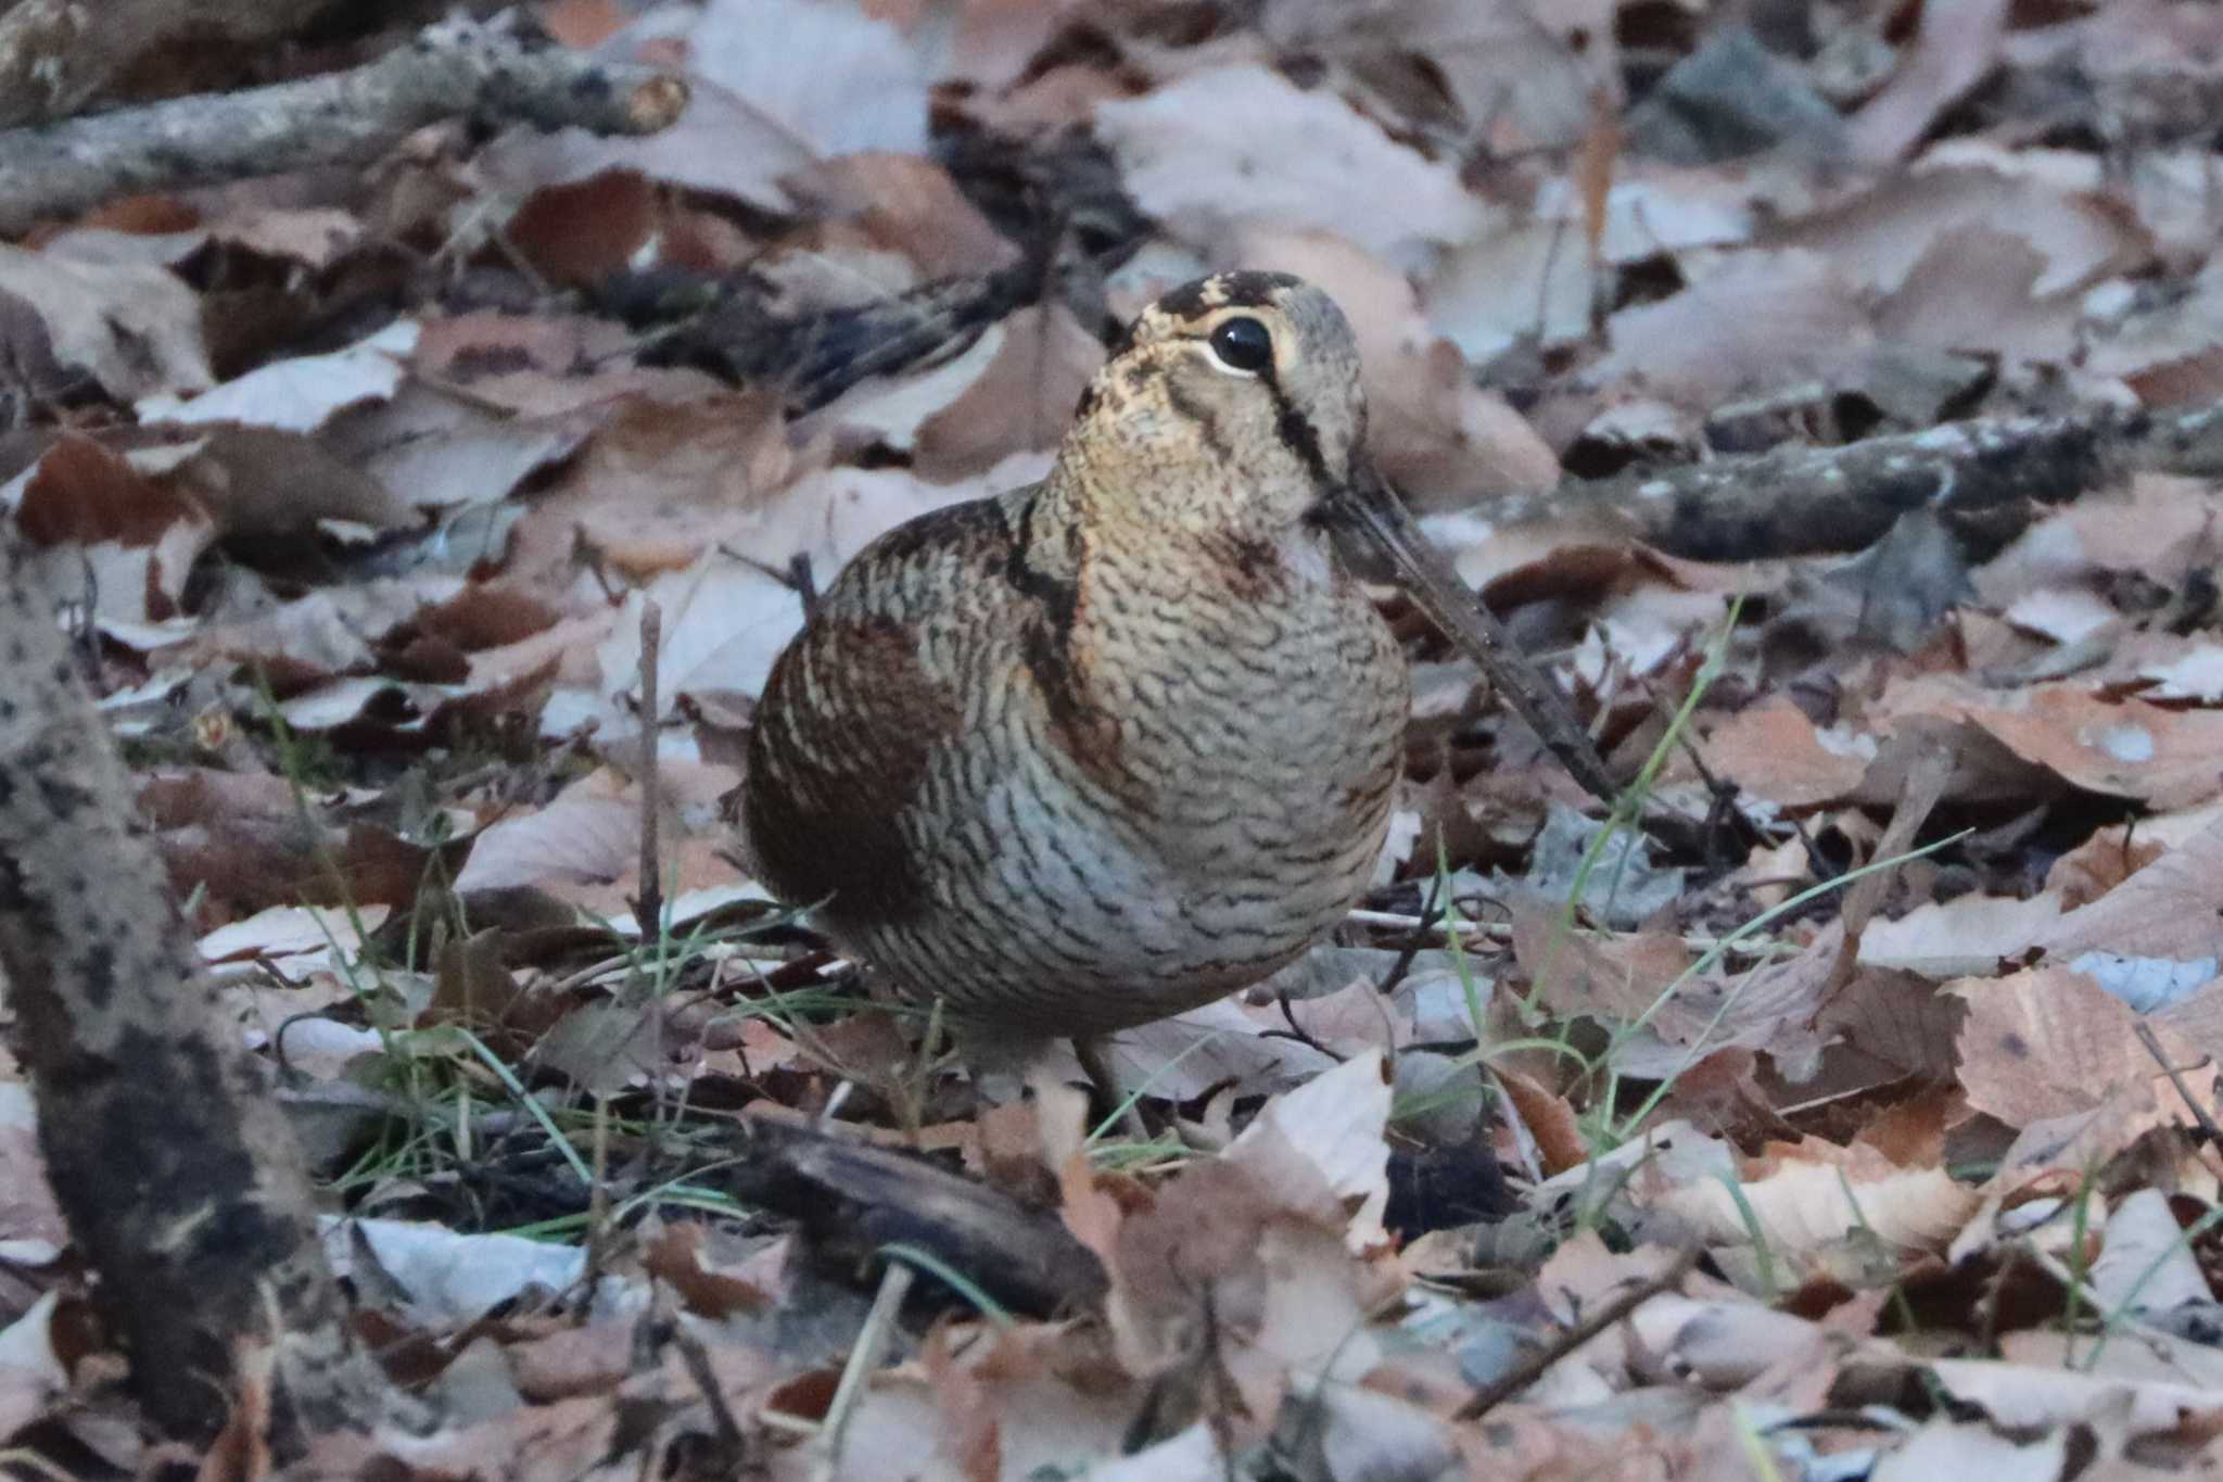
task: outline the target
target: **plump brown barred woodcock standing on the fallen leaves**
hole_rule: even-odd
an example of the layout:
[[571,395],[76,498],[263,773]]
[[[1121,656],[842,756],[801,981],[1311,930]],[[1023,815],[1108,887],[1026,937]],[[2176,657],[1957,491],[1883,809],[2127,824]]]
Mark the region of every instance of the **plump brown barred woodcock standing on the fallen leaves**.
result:
[[1472,609],[1363,451],[1358,347],[1280,273],[1143,311],[1040,484],[920,515],[771,671],[765,882],[963,1022],[1103,1035],[1258,982],[1365,889],[1407,671],[1338,549]]

